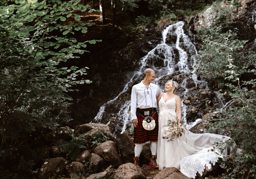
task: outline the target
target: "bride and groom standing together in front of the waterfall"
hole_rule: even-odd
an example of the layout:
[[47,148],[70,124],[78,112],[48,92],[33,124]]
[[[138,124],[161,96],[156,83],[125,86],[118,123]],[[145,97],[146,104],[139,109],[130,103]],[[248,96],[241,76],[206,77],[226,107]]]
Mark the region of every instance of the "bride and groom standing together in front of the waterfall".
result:
[[[214,163],[209,159],[213,153],[209,153],[209,149],[213,148],[212,144],[214,142],[221,143],[224,140],[223,138],[227,139],[229,137],[212,133],[196,134],[188,131],[188,134],[175,138],[173,141],[164,139],[165,127],[170,122],[179,124],[181,121],[181,100],[174,93],[178,88],[178,83],[174,81],[166,82],[166,92],[164,93],[160,87],[152,83],[155,80],[155,72],[152,69],[146,69],[143,74],[144,80],[134,85],[131,91],[131,119],[134,125],[133,143],[135,143],[134,164],[139,165],[143,143],[150,141],[152,158],[149,164],[153,168],[163,170],[167,167],[175,167],[180,169],[184,165],[182,162],[190,158],[190,160],[194,160],[190,164],[196,165],[191,166],[192,170],[195,171],[192,174],[189,174],[191,171],[187,171],[188,173],[186,171],[181,172],[194,178],[193,175],[198,172],[196,170],[204,169],[209,161]],[[159,116],[156,110],[157,106],[159,106]],[[144,119],[150,117],[155,120],[153,130],[143,128]],[[205,153],[205,151],[208,153]],[[227,154],[227,150],[223,150],[221,154]],[[217,154],[213,153],[213,155]],[[193,157],[191,158],[191,156]],[[183,170],[191,170],[188,169],[188,165],[185,168]]]

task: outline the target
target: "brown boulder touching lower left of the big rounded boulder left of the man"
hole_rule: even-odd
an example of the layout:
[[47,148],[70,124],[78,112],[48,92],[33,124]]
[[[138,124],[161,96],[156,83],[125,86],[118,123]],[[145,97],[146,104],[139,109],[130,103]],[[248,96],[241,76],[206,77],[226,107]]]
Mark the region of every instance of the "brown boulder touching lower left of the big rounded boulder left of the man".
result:
[[105,159],[101,158],[96,153],[91,153],[89,159],[89,171],[100,172],[103,168],[107,167]]

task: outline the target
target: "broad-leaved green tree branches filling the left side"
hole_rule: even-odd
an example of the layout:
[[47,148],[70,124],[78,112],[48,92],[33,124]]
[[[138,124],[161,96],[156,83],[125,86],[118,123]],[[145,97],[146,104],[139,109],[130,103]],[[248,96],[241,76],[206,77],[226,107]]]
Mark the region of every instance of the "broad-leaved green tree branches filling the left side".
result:
[[[20,144],[22,138],[40,128],[55,128],[71,120],[67,108],[76,84],[84,80],[86,68],[62,67],[79,58],[87,42],[67,34],[87,32],[92,23],[81,23],[76,10],[89,6],[60,0],[3,0],[0,6],[0,132],[1,146]],[[65,24],[67,18],[76,23]]]

